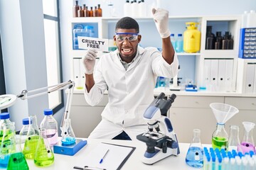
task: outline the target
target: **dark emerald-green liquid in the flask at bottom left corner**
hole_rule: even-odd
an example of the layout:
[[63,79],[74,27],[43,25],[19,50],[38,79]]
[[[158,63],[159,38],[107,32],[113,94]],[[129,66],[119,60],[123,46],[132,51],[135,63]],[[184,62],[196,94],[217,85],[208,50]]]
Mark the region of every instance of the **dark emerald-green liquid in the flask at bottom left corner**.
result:
[[24,155],[21,152],[11,154],[7,170],[28,170],[28,164]]

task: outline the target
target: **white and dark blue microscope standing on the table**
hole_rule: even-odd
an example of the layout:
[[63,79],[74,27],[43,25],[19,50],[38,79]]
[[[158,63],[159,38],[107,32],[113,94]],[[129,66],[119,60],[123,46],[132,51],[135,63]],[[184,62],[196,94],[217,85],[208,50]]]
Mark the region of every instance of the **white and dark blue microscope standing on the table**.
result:
[[149,130],[137,135],[137,140],[146,143],[146,152],[142,158],[144,164],[154,164],[170,155],[177,156],[180,153],[171,120],[161,115],[171,108],[175,98],[176,95],[172,94],[165,99],[165,94],[161,93],[144,112],[143,116],[148,121]]

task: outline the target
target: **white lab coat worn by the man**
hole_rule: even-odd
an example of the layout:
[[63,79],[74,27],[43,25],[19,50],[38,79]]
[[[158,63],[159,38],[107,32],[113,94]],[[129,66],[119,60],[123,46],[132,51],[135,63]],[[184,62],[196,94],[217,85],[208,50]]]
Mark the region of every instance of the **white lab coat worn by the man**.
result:
[[117,50],[100,57],[94,72],[95,85],[89,93],[85,89],[85,100],[95,106],[108,90],[109,103],[90,138],[112,139],[124,130],[135,140],[137,135],[146,132],[143,113],[154,100],[156,78],[175,77],[178,58],[175,55],[174,62],[168,64],[154,47],[138,47],[137,52],[139,56],[127,71],[117,56]]

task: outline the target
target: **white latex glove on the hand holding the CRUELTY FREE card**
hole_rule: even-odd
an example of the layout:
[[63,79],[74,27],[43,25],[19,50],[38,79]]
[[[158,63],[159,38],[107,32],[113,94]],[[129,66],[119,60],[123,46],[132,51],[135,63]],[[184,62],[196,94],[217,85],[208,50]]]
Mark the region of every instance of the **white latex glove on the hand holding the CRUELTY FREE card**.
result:
[[85,66],[85,74],[92,74],[95,67],[95,60],[97,57],[95,49],[88,49],[86,55],[82,58],[82,64]]

